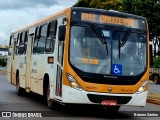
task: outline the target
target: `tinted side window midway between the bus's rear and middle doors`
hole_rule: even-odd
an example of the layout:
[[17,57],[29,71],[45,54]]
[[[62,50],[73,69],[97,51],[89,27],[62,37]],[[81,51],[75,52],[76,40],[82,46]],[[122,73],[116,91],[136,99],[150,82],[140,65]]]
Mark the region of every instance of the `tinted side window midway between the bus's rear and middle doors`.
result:
[[20,43],[19,43],[19,48],[18,48],[18,54],[24,54],[24,52],[25,52],[24,39],[25,39],[25,32],[22,32],[20,34]]

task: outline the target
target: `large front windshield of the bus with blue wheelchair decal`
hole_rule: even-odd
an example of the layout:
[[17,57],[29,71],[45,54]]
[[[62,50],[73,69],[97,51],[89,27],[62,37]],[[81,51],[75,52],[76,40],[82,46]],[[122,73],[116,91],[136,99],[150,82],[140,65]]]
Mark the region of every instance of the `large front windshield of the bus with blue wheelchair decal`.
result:
[[[147,66],[146,33],[96,28],[104,43],[90,26],[72,26],[70,37],[70,63],[87,73],[137,76]],[[106,49],[107,48],[107,49]]]

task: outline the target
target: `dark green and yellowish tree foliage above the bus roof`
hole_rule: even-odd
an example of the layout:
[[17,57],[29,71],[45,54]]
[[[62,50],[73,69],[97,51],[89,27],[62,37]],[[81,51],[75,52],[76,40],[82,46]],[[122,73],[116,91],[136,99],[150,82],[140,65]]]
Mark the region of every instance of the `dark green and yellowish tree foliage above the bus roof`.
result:
[[78,0],[74,6],[112,9],[146,17],[150,38],[160,36],[160,0]]

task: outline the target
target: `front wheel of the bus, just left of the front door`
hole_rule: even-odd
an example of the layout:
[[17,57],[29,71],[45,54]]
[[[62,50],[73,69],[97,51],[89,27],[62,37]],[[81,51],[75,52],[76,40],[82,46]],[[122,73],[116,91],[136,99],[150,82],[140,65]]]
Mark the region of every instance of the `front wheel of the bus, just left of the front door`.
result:
[[47,87],[47,93],[46,93],[46,97],[47,97],[47,105],[48,105],[48,108],[50,109],[55,109],[56,107],[56,104],[51,98],[50,98],[50,85],[48,85]]

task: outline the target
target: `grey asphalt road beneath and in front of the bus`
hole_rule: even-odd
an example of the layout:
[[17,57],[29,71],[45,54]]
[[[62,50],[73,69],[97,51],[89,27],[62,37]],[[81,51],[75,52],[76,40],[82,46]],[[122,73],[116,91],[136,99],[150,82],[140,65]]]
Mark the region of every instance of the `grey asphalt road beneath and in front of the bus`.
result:
[[[160,105],[149,104],[145,107],[129,107],[122,106],[118,113],[109,114],[106,110],[89,107],[89,106],[72,106],[66,107],[62,105],[57,105],[56,109],[48,109],[43,97],[36,94],[28,94],[26,96],[20,97],[16,95],[16,88],[10,85],[6,80],[5,75],[0,75],[0,114],[2,111],[32,111],[40,112],[42,116],[47,117],[34,118],[35,120],[106,120],[106,119],[160,119]],[[159,111],[158,117],[134,117],[134,113],[138,114],[143,111],[147,113],[155,113]],[[142,114],[143,115],[143,114]],[[52,117],[49,117],[52,116]],[[31,119],[31,118],[0,118],[0,120],[12,120],[12,119]],[[33,118],[32,118],[33,119]]]

